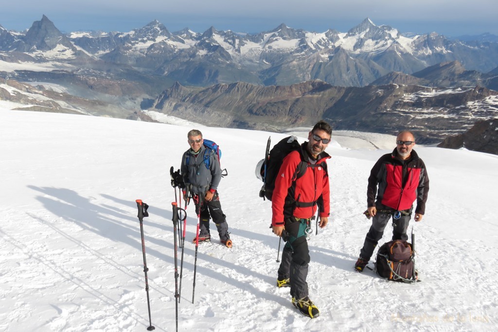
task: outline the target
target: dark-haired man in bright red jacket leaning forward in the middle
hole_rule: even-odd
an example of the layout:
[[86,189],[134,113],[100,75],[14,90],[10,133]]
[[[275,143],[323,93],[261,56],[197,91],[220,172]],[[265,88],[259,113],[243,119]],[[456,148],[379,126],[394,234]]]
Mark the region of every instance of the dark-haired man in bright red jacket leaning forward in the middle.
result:
[[[271,198],[273,233],[286,241],[282,261],[278,268],[278,287],[289,287],[292,304],[304,315],[315,318],[318,308],[308,297],[308,249],[307,229],[311,218],[319,209],[320,227],[329,221],[330,189],[326,160],[330,156],[325,148],[330,142],[332,128],[319,121],[308,134],[308,142],[289,153],[275,180]],[[304,175],[296,177],[301,161],[306,163]]]

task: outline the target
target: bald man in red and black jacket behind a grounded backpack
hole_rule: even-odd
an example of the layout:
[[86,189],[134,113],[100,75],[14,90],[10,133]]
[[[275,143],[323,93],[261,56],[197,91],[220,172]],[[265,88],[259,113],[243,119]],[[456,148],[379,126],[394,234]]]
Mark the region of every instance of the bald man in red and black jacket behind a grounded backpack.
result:
[[[401,131],[396,148],[384,154],[370,172],[367,189],[367,217],[373,217],[355,269],[362,272],[372,257],[384,228],[392,217],[392,239],[407,240],[406,229],[417,201],[415,221],[421,221],[429,192],[429,177],[425,164],[413,150],[415,137],[410,131]],[[378,191],[377,191],[378,185]],[[375,198],[375,193],[377,194]]]

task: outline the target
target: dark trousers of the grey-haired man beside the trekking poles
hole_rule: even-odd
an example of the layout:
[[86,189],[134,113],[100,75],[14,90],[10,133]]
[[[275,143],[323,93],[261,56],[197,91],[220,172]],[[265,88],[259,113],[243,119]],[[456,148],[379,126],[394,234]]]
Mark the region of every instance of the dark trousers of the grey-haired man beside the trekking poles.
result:
[[[196,207],[196,214],[198,213]],[[201,197],[201,212],[200,212],[200,222],[199,222],[199,236],[208,235],[209,232],[209,219],[212,218],[218,229],[218,234],[220,235],[220,240],[226,241],[230,238],[228,234],[228,223],[227,217],[223,214],[221,210],[220,197],[218,196],[218,191],[213,195],[211,201],[206,201],[204,196]]]

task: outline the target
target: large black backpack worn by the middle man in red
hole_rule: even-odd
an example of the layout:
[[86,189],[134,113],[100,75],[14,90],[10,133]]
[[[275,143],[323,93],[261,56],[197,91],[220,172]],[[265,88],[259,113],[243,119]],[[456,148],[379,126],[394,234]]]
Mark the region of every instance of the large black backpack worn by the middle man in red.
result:
[[301,144],[297,141],[296,136],[285,137],[276,143],[273,148],[269,151],[268,161],[266,163],[266,173],[264,169],[264,160],[260,161],[256,166],[256,176],[260,180],[264,180],[264,184],[259,191],[259,197],[266,198],[271,201],[271,196],[273,195],[273,190],[275,189],[275,179],[277,173],[282,166],[283,159],[292,151],[299,151],[301,155],[301,162],[297,165],[296,171],[294,173],[293,181],[296,181],[302,177],[308,167],[322,166],[325,172],[327,172],[327,163],[321,162],[320,164],[310,165],[302,160]]

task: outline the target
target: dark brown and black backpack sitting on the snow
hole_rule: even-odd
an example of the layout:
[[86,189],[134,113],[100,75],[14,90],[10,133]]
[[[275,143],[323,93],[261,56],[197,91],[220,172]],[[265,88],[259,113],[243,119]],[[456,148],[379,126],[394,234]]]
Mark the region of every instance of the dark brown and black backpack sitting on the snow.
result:
[[412,245],[403,240],[382,244],[377,251],[375,271],[378,276],[391,281],[417,282]]

